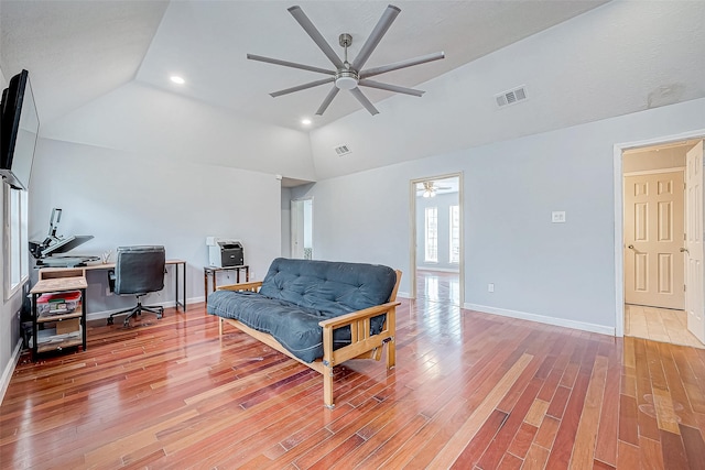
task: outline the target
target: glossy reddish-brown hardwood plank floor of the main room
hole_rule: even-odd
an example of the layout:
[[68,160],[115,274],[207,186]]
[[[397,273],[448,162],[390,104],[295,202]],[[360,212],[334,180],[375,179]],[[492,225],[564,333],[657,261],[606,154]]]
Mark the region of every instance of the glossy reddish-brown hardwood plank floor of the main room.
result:
[[[403,300],[398,367],[321,378],[203,305],[23,356],[0,467],[703,469],[705,350]],[[139,321],[138,324],[139,325]]]

